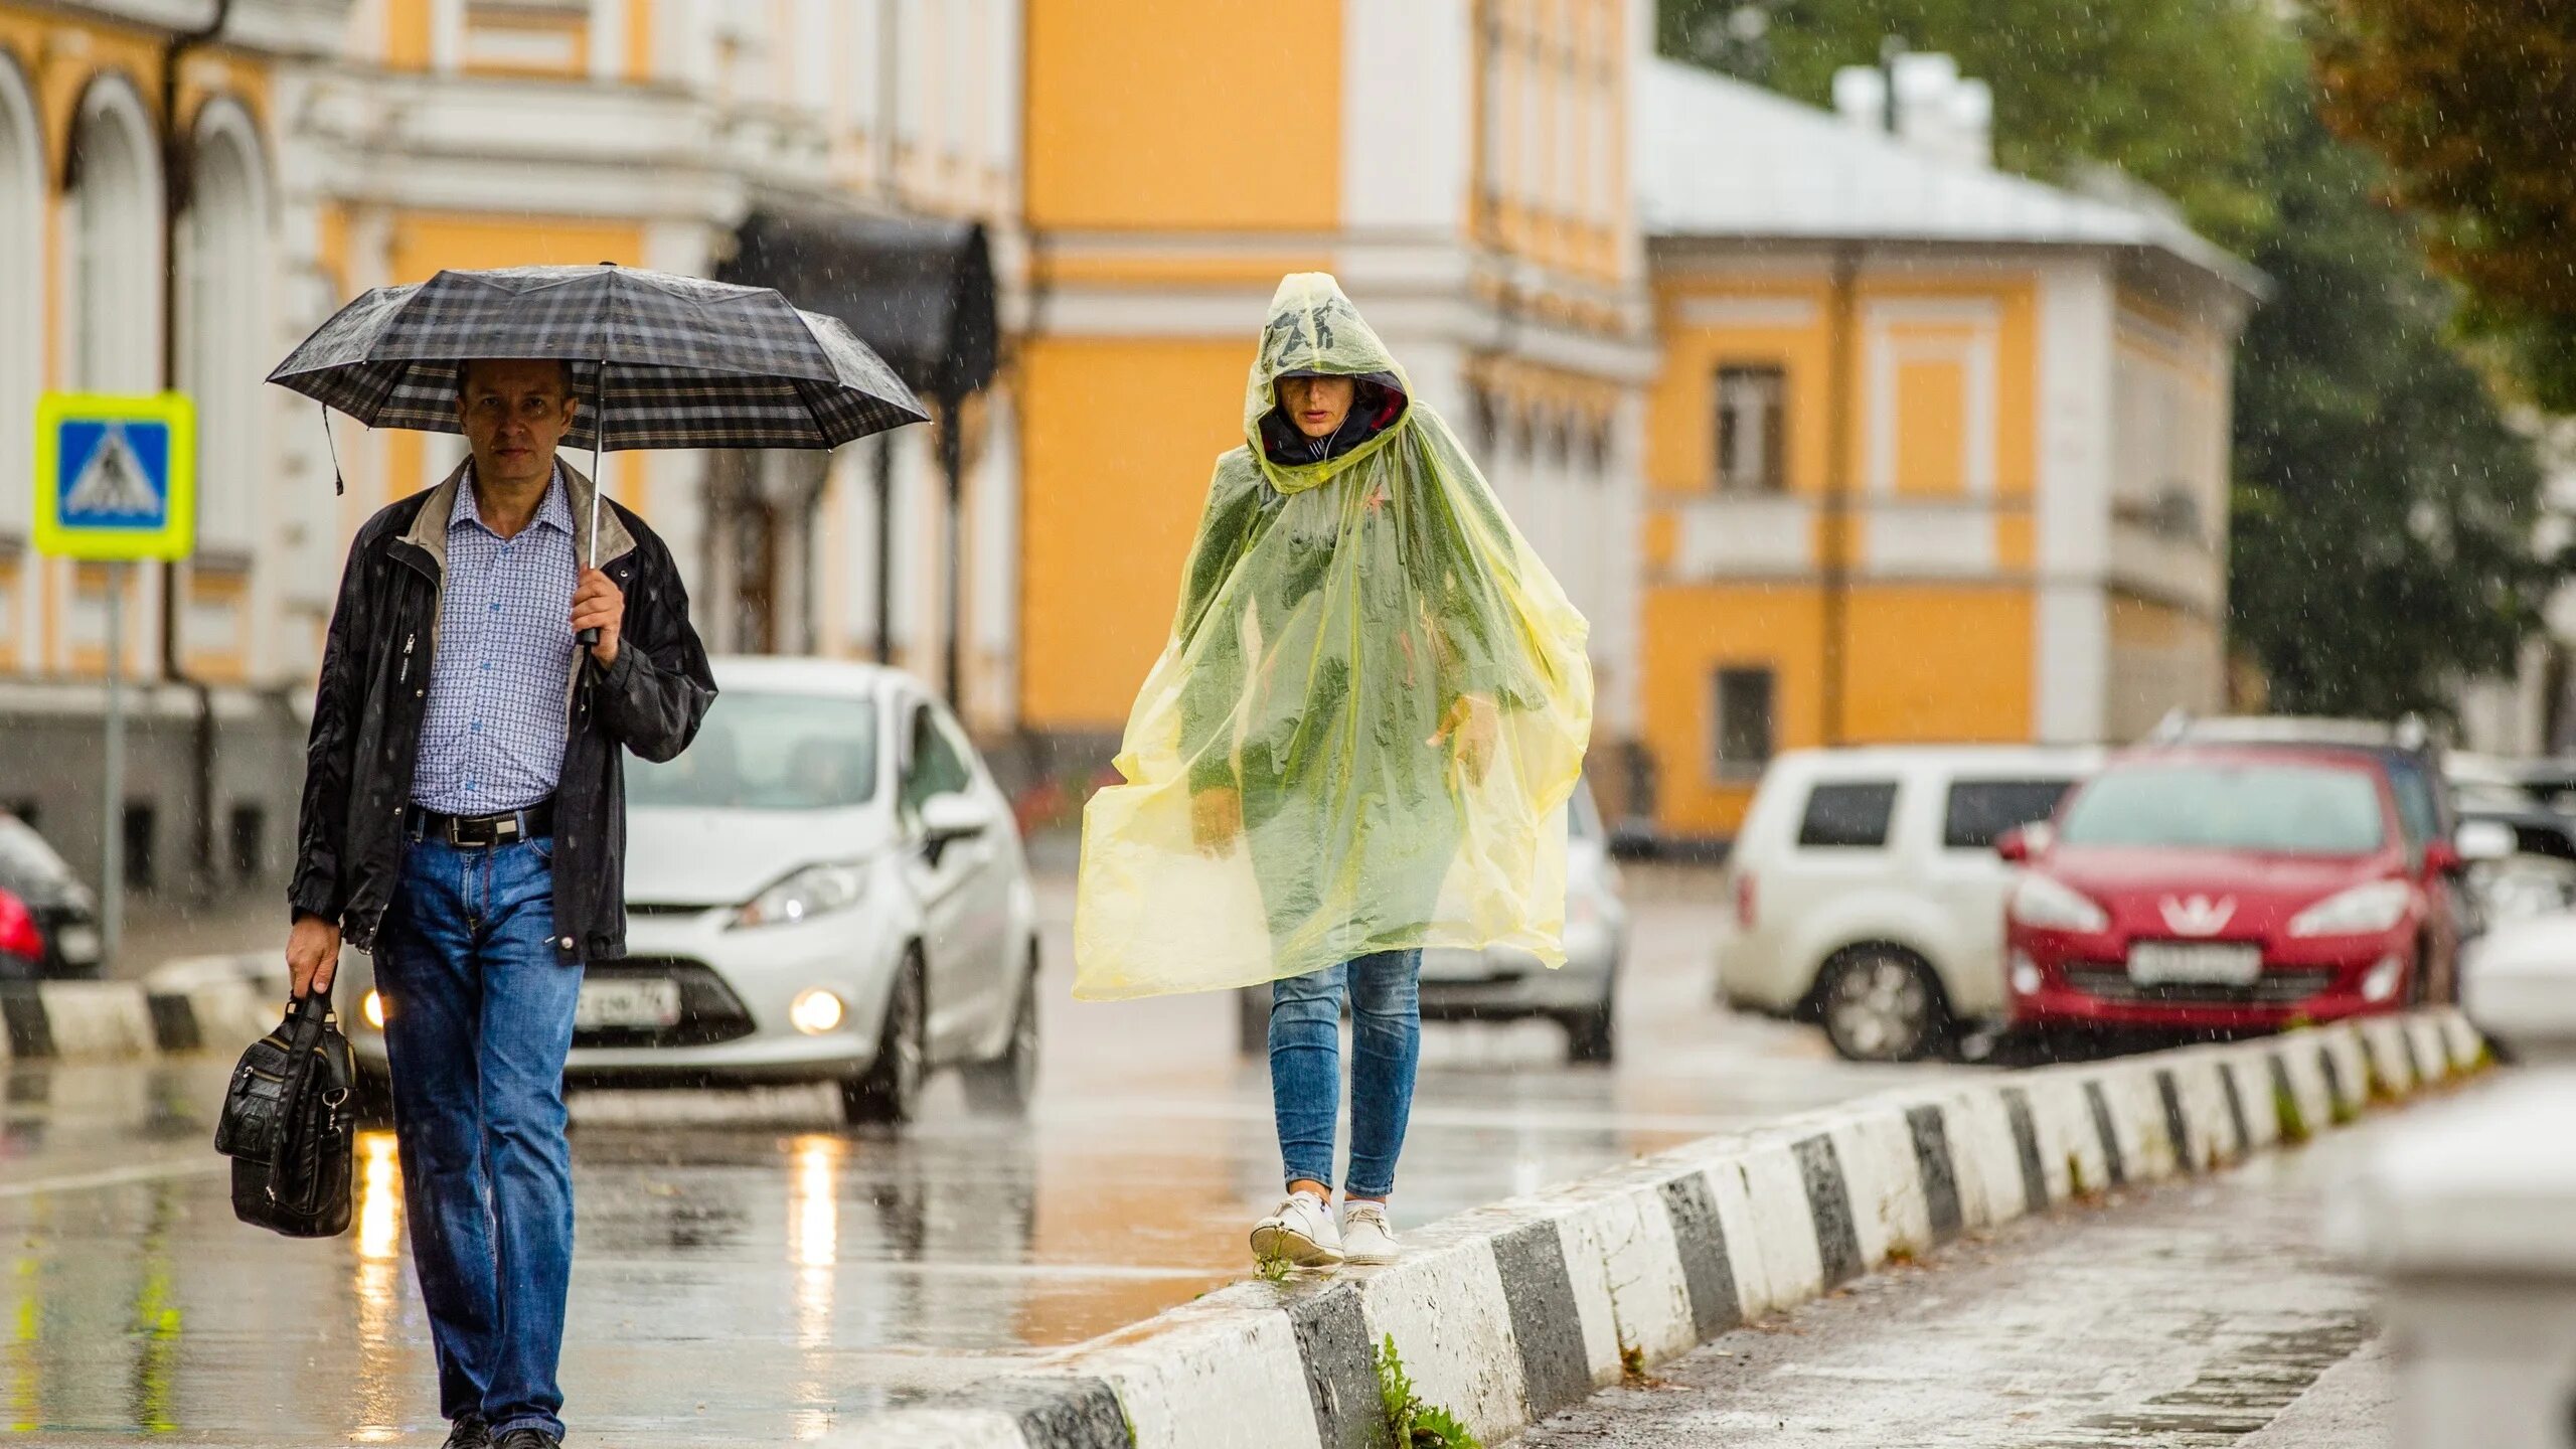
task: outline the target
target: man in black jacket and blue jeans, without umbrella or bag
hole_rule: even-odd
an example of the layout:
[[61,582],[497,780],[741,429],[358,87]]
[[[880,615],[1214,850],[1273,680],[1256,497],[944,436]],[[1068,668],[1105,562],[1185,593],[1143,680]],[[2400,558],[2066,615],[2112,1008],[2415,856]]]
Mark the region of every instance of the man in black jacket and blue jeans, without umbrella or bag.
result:
[[[621,954],[618,750],[677,755],[716,683],[670,549],[556,443],[546,358],[459,369],[471,456],[361,531],[304,779],[294,990],[374,944],[404,1207],[456,1449],[551,1449],[572,1279],[564,1055]],[[598,629],[582,650],[580,629]]]

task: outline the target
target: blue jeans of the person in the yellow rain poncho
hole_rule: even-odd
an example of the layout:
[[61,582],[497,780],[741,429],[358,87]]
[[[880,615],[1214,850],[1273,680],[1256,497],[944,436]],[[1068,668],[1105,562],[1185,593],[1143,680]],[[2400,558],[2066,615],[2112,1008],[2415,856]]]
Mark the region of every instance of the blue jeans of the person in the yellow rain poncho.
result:
[[1342,1116],[1342,987],[1350,987],[1350,1181],[1342,1196],[1396,1191],[1396,1155],[1422,1060],[1422,951],[1378,951],[1270,982],[1270,1109],[1288,1181],[1332,1186]]

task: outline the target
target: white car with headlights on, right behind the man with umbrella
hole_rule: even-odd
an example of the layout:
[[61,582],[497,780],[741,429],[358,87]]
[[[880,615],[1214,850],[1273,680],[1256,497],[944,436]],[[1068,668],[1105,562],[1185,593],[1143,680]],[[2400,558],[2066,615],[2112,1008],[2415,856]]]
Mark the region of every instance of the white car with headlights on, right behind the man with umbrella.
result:
[[[917,678],[716,660],[670,763],[626,761],[626,957],[592,962],[569,1080],[840,1083],[850,1122],[907,1122],[933,1067],[1025,1109],[1038,920],[1010,804]],[[384,1073],[384,1000],[335,995]]]

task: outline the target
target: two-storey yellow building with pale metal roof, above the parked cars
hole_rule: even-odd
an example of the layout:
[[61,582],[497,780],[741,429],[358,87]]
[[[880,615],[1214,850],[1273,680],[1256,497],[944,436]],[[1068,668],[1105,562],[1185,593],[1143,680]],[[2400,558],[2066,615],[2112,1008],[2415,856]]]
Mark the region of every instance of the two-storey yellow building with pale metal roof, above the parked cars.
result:
[[1906,134],[1868,85],[1852,116],[1672,62],[1638,85],[1672,838],[1731,835],[1775,750],[2128,740],[2223,701],[2259,278],[2154,204],[1994,173],[1981,88],[1917,59]]

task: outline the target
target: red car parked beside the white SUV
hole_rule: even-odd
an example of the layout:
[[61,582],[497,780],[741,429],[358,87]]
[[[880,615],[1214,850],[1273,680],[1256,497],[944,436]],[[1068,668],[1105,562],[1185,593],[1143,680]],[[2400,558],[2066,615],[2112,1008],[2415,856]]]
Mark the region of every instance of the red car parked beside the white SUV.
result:
[[2450,1000],[2460,851],[2385,750],[2112,758],[1999,841],[2017,1024],[2246,1029]]

